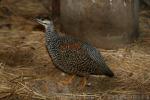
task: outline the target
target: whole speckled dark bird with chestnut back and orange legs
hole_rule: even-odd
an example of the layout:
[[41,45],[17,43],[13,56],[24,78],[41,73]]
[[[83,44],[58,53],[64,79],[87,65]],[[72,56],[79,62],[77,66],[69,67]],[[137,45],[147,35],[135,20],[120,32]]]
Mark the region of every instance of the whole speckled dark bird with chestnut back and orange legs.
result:
[[60,35],[55,31],[51,20],[44,18],[36,20],[45,27],[45,43],[53,64],[70,75],[70,78],[62,81],[63,84],[68,84],[75,76],[79,76],[83,77],[81,86],[84,87],[91,75],[114,76],[104,57],[89,42],[70,35]]

